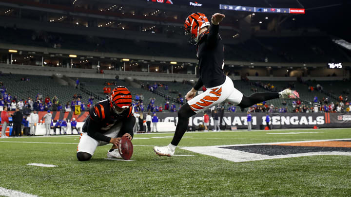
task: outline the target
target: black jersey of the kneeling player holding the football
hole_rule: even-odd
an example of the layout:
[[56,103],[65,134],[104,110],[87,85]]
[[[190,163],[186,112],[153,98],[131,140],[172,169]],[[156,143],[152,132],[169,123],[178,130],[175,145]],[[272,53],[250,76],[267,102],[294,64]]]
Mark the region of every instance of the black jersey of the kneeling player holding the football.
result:
[[109,99],[98,102],[89,109],[89,117],[87,117],[82,131],[87,132],[88,135],[95,140],[110,142],[111,138],[104,136],[112,126],[122,122],[122,127],[118,133],[118,137],[129,133],[133,137],[133,127],[136,119],[133,116],[133,107],[124,110],[121,114],[116,114],[110,110]]

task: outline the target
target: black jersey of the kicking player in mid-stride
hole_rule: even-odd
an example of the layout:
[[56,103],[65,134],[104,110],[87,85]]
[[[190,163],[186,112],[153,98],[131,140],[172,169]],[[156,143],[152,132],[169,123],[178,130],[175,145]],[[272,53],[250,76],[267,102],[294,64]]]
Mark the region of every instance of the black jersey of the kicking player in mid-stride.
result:
[[200,78],[194,86],[195,90],[199,90],[203,85],[206,88],[220,86],[226,80],[223,72],[224,47],[218,31],[219,25],[212,24],[199,36],[196,56],[199,60]]

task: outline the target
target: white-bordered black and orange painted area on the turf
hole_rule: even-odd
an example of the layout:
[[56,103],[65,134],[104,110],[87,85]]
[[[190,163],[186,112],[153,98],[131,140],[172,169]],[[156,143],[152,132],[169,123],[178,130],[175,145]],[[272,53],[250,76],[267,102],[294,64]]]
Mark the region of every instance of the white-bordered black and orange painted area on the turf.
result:
[[[234,162],[283,159],[315,155],[351,156],[350,139],[282,143],[195,146],[181,149]],[[307,146],[310,144],[310,146]],[[318,146],[319,145],[319,146]]]

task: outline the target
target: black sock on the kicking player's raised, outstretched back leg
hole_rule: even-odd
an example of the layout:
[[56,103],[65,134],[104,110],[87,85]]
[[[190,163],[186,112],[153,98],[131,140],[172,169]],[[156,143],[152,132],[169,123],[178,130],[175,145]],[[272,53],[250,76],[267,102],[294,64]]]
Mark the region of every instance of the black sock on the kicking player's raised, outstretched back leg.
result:
[[279,98],[278,92],[260,92],[253,93],[249,97],[243,96],[240,104],[238,105],[241,108],[250,107],[254,104],[261,103],[263,101],[268,101],[272,99]]

